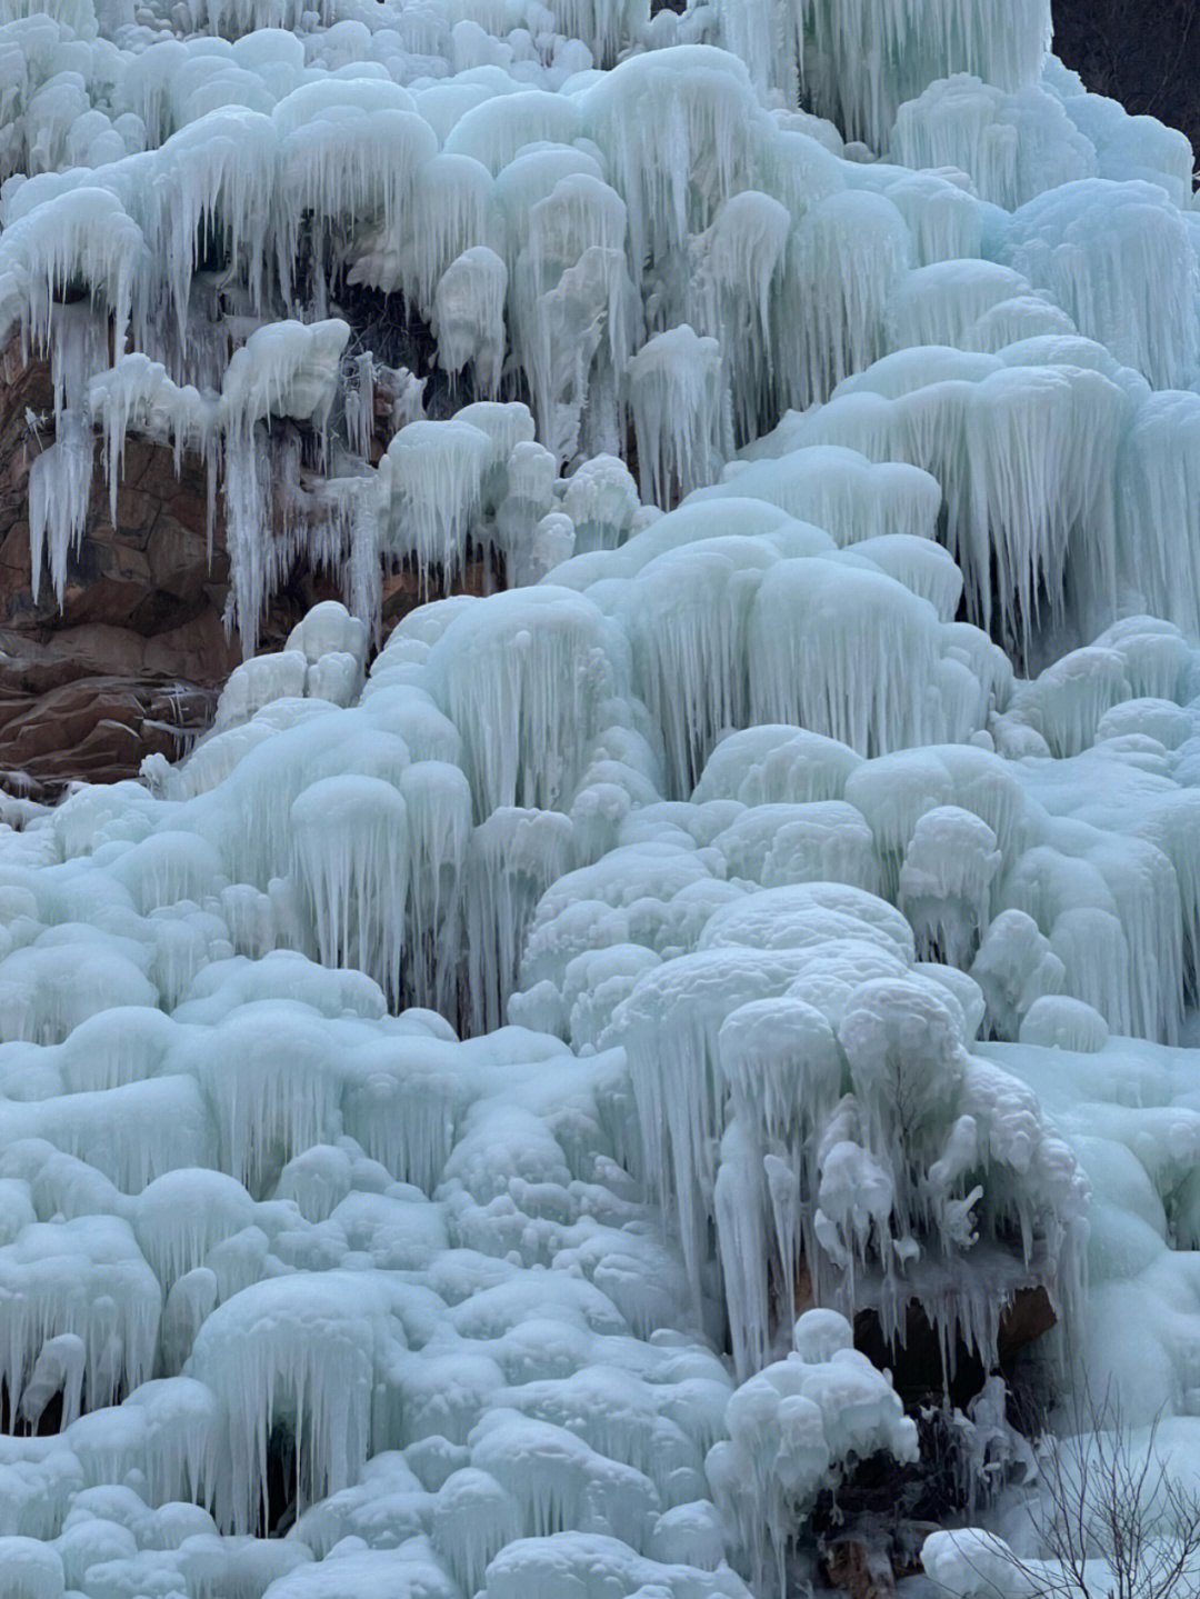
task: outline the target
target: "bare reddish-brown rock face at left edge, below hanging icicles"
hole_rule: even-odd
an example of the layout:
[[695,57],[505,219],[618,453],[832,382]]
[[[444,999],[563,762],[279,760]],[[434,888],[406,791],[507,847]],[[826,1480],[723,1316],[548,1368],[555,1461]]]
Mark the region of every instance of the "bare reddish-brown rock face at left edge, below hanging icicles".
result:
[[[53,796],[70,779],[110,782],[144,755],[179,753],[208,724],[236,664],[225,638],[224,529],[206,539],[203,470],[131,440],[115,521],[99,465],[85,536],[59,608],[34,584],[29,467],[53,441],[43,361],[0,361],[0,785]],[[99,453],[97,453],[99,454]],[[35,596],[37,587],[37,596]]]

